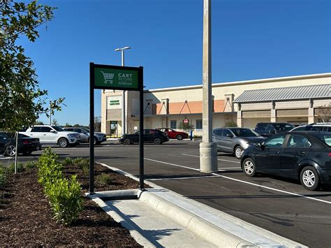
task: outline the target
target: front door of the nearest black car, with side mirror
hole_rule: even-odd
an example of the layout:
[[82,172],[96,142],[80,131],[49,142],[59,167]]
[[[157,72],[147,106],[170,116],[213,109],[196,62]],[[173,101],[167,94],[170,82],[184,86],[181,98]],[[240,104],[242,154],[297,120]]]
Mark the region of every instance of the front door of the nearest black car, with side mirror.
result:
[[280,175],[280,154],[286,135],[283,133],[267,138],[253,153],[258,171]]

